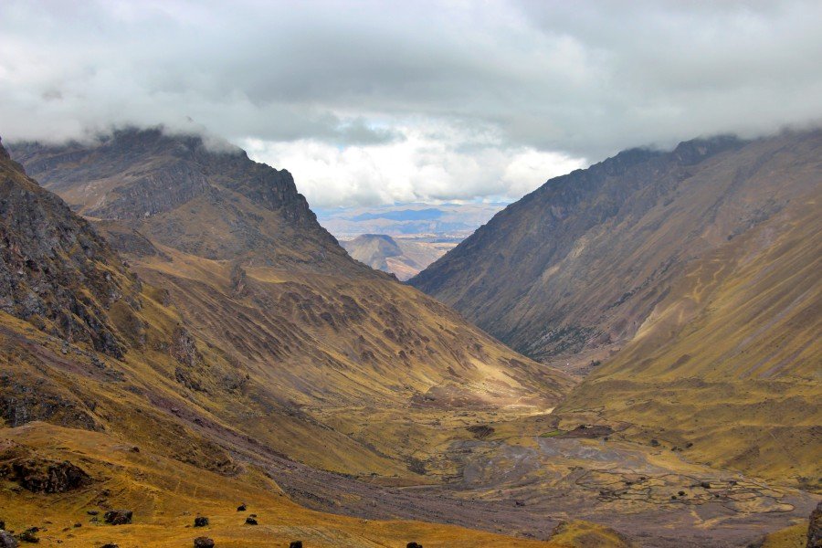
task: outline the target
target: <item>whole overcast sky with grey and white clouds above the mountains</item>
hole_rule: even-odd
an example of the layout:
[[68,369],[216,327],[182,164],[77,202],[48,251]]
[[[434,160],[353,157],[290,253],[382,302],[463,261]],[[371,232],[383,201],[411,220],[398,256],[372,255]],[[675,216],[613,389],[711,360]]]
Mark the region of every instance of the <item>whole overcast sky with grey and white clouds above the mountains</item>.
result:
[[311,205],[516,199],[633,146],[822,121],[822,2],[0,2],[0,136],[164,124]]

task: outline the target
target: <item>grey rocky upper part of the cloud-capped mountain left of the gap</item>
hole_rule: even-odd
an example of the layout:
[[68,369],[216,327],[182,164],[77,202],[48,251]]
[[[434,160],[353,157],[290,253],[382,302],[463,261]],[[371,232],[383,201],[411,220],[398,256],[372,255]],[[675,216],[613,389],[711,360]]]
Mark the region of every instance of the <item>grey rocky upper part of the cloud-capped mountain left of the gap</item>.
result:
[[[356,269],[316,221],[291,174],[224,143],[122,130],[92,145],[18,143],[12,153],[78,213],[116,220],[155,242],[205,258]],[[116,232],[118,243],[144,242]]]

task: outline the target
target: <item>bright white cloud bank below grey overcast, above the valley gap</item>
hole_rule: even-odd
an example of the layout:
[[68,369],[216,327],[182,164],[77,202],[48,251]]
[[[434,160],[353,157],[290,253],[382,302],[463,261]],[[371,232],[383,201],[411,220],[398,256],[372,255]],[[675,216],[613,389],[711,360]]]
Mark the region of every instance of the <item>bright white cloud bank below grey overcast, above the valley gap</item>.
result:
[[395,128],[402,139],[335,147],[314,140],[248,139],[240,146],[258,162],[294,175],[312,206],[385,205],[483,198],[515,200],[585,160],[442,127]]

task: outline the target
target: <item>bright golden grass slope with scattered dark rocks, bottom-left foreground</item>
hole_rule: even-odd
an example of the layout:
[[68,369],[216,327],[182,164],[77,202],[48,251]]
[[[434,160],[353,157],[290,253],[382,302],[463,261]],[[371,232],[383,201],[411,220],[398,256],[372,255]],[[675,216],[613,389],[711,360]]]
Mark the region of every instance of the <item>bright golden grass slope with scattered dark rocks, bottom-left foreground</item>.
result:
[[[103,433],[79,433],[36,422],[2,429],[0,437],[37,448],[44,458],[68,458],[93,478],[79,490],[58,494],[34,494],[0,483],[6,527],[19,532],[37,526],[46,545],[184,546],[201,535],[228,547],[287,546],[295,540],[329,547],[405,546],[411,541],[434,547],[573,545],[432,523],[377,522],[308,511],[290,502],[258,470],[226,478],[144,450],[133,452],[130,443]],[[247,504],[247,511],[237,511],[241,503]],[[132,510],[132,524],[103,524],[102,510],[111,505]],[[93,517],[98,521],[92,522],[88,511],[100,511]],[[257,526],[245,524],[252,513],[257,515]],[[207,517],[209,525],[192,527],[195,516]]]

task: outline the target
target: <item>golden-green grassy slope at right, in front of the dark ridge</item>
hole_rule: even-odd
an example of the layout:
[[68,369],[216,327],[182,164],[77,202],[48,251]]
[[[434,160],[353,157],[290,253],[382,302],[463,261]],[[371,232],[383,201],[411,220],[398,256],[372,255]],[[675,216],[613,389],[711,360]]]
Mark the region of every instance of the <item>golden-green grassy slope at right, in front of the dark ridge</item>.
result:
[[709,257],[559,407],[687,458],[822,490],[822,242],[815,201]]

